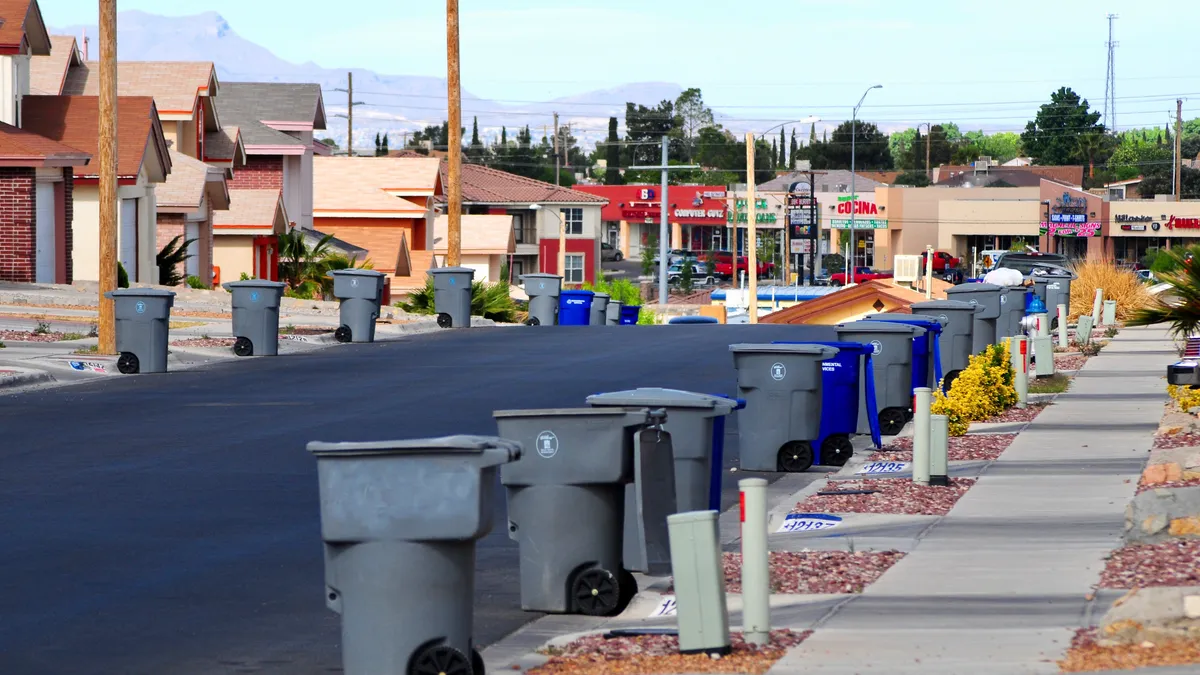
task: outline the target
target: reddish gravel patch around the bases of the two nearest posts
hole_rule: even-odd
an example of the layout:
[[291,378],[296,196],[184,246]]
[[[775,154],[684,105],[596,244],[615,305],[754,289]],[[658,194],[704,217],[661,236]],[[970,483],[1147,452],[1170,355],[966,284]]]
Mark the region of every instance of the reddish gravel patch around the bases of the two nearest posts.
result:
[[748,673],[762,674],[803,643],[812,631],[779,629],[770,632],[767,645],[748,645],[742,633],[731,633],[732,653],[720,658],[679,653],[676,635],[638,635],[605,639],[600,635],[580,638],[564,647],[544,651],[551,656],[544,665],[529,669],[529,675],[673,675],[677,673]]

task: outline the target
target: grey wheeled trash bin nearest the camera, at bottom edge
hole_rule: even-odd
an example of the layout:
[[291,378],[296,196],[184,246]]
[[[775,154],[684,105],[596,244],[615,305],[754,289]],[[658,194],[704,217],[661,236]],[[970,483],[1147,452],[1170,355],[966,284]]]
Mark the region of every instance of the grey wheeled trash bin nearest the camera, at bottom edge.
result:
[[521,446],[449,436],[313,442],[308,452],[342,671],[482,673],[472,637],[475,540],[492,530],[496,467]]

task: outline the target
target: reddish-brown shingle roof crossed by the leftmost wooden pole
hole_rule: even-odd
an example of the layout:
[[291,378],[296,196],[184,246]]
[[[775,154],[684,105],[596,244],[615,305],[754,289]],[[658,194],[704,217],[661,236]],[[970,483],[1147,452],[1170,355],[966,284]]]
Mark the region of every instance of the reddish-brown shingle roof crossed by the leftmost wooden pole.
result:
[[[22,100],[25,129],[96,155],[100,136],[100,98],[96,96],[25,96]],[[151,181],[161,183],[170,172],[167,139],[154,98],[119,96],[116,100],[116,173],[136,177],[148,160]],[[157,160],[157,161],[154,161]],[[161,169],[158,168],[161,167]],[[92,178],[98,162],[76,167],[76,178]],[[158,175],[160,171],[163,175]],[[157,179],[157,180],[156,180]]]

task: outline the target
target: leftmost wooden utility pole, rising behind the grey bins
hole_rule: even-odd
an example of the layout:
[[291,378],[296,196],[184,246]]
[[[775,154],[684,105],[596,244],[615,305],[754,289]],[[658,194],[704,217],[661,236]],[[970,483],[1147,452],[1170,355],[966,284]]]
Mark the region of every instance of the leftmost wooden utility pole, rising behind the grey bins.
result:
[[[100,336],[97,352],[116,353],[116,0],[100,0]],[[136,281],[136,280],[134,280]]]

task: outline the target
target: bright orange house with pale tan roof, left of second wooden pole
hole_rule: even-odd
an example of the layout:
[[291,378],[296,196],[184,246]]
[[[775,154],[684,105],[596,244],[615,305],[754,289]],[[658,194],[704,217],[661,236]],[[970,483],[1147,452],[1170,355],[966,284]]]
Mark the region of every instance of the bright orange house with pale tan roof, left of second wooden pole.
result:
[[313,160],[313,228],[366,249],[396,289],[421,287],[433,267],[433,205],[442,195],[436,159]]

